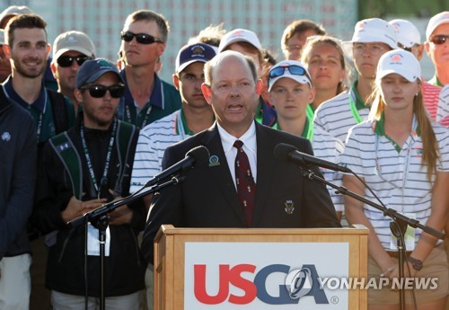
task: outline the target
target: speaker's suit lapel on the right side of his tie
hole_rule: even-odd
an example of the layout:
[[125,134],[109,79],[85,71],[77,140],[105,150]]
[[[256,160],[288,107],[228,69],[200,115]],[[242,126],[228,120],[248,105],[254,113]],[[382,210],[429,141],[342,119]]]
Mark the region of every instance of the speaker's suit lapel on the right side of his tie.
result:
[[252,218],[252,226],[258,226],[263,208],[266,208],[267,196],[273,184],[274,166],[276,165],[273,155],[274,146],[271,137],[259,123],[256,122],[257,139],[257,180],[256,180],[256,206]]

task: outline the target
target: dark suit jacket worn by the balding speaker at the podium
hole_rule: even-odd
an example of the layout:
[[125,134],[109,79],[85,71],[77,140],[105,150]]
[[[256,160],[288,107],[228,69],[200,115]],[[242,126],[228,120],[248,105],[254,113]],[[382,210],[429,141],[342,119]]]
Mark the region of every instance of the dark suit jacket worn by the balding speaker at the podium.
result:
[[[275,158],[274,149],[281,142],[313,155],[310,142],[257,122],[256,139],[257,187],[252,227],[340,227],[326,187],[305,178],[295,164]],[[153,262],[154,236],[163,224],[248,227],[216,125],[168,147],[163,169],[179,162],[195,146],[206,146],[211,157],[218,157],[219,164],[194,167],[185,173],[185,181],[154,195],[142,244],[149,262]],[[313,171],[321,175],[318,169]],[[286,212],[287,200],[294,204],[291,214]]]

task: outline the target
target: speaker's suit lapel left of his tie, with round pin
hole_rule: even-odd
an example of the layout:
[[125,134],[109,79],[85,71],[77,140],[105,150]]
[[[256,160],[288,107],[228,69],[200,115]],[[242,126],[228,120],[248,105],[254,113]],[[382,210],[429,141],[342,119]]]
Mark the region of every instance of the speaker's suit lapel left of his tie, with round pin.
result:
[[[235,214],[242,220],[242,223],[246,224],[243,210],[237,196],[237,191],[235,190],[235,185],[233,183],[233,178],[231,177],[231,173],[229,173],[229,165],[226,161],[225,151],[223,150],[220,134],[218,133],[216,125],[208,129],[207,134],[201,142],[209,150],[210,158],[208,172],[210,173],[211,178],[216,182],[216,189],[222,192],[224,199],[226,199],[230,208],[233,208]],[[213,164],[215,161],[214,159],[217,159],[219,164]]]

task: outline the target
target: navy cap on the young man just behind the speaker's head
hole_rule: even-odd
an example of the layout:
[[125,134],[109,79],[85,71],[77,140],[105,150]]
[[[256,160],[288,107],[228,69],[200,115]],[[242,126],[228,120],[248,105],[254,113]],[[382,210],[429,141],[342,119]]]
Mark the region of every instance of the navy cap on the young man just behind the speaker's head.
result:
[[180,52],[176,57],[176,73],[180,73],[186,66],[189,66],[194,62],[199,61],[206,63],[215,56],[216,48],[211,45],[204,43],[186,45],[180,49]]

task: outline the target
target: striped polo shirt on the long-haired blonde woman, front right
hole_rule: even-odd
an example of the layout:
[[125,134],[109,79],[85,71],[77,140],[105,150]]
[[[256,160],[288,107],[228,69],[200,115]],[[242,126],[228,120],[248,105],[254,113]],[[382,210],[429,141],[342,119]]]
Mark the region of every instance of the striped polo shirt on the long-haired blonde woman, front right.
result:
[[[449,172],[449,131],[436,122],[432,125],[441,156],[436,170]],[[422,147],[418,129],[410,133],[403,146],[397,146],[385,135],[383,118],[377,122],[365,121],[351,129],[340,164],[364,178],[387,208],[414,213],[425,225],[431,212],[431,190],[436,175],[432,176],[432,182],[427,182],[427,166],[421,164]],[[365,198],[377,203],[367,189]],[[374,207],[364,205],[363,208],[383,248],[390,250],[390,217],[384,217]],[[415,243],[420,235],[421,230],[416,229]]]

